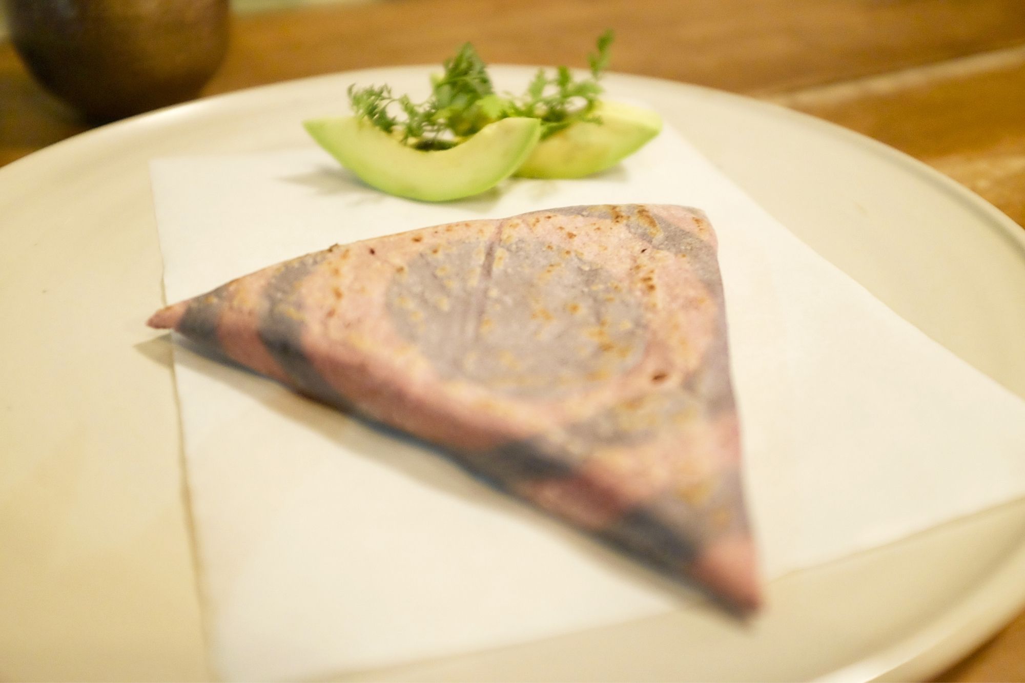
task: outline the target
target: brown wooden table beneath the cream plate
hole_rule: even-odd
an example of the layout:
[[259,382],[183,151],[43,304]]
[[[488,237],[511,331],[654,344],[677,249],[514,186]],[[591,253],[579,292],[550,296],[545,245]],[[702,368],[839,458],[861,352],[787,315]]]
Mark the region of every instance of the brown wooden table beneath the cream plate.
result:
[[[617,31],[615,71],[829,119],[917,157],[1025,225],[1021,0],[378,0],[291,9],[237,17],[204,93],[437,64],[465,40],[492,63],[582,67],[607,27]],[[87,128],[0,43],[0,165]],[[1025,614],[937,680],[1025,681]]]

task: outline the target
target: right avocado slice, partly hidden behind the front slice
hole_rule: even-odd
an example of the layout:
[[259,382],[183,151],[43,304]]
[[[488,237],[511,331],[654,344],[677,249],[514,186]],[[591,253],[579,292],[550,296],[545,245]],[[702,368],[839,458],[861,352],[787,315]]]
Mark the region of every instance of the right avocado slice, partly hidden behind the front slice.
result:
[[517,169],[522,177],[583,177],[614,166],[662,129],[662,117],[648,109],[601,102],[601,123],[579,121],[546,137]]

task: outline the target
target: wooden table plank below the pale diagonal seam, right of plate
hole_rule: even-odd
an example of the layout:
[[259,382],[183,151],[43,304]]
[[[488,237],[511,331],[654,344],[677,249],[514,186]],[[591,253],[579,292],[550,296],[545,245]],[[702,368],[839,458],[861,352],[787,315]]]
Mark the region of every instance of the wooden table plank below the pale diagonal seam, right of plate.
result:
[[1025,226],[1025,47],[769,99],[906,152]]

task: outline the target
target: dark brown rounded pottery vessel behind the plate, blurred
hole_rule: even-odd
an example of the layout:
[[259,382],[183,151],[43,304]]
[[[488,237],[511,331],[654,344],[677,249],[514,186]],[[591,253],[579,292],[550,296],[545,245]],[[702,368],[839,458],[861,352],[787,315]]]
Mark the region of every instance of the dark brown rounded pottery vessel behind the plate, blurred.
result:
[[48,90],[94,121],[194,97],[228,47],[228,0],[2,0]]

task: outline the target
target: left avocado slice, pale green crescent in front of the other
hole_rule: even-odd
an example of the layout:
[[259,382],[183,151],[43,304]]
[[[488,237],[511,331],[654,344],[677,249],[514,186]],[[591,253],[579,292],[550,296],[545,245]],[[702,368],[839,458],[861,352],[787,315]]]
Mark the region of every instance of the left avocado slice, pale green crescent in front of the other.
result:
[[537,119],[501,119],[448,150],[423,152],[355,117],[303,122],[306,131],[367,185],[400,197],[444,202],[508,177],[541,135]]

